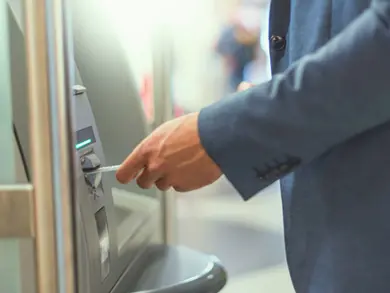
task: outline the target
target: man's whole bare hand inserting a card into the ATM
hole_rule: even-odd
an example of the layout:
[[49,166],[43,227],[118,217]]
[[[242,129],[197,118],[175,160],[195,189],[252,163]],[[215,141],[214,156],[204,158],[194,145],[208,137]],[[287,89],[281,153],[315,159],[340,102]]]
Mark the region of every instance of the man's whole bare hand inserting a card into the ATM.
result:
[[116,173],[123,184],[137,178],[141,188],[155,184],[160,190],[173,187],[179,192],[209,185],[221,175],[200,143],[198,113],[158,127],[136,147]]

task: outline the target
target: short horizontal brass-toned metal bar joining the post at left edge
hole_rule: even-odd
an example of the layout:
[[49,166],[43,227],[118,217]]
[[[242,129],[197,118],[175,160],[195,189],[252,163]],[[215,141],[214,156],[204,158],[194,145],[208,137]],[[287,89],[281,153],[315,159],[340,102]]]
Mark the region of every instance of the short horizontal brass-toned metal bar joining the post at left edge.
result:
[[0,238],[34,236],[32,186],[0,185]]

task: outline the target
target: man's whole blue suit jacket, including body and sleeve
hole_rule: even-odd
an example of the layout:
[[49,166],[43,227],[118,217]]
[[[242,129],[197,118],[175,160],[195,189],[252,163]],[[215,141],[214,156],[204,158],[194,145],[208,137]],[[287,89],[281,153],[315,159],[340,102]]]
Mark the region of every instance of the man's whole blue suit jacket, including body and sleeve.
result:
[[390,0],[272,0],[270,40],[272,80],[201,141],[244,199],[284,178],[297,292],[389,293]]

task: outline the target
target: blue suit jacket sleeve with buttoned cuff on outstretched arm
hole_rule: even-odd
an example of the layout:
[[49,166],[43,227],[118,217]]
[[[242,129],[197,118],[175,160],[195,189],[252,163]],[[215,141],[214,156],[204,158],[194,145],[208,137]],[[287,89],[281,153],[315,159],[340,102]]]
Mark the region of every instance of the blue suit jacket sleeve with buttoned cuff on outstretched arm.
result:
[[199,114],[201,142],[244,199],[390,121],[390,1],[267,83]]

